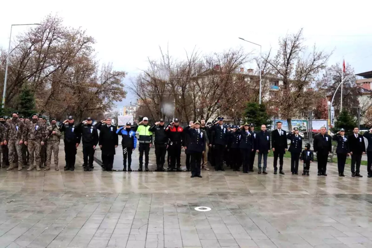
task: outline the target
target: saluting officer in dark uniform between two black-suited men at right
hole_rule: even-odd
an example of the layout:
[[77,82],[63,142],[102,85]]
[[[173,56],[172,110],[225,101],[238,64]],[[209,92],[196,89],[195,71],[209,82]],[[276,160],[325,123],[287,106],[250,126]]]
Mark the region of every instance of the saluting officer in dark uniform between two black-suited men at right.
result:
[[344,177],[344,168],[346,157],[350,153],[349,139],[345,136],[345,129],[341,128],[332,138],[337,142],[337,168],[339,169],[339,177]]

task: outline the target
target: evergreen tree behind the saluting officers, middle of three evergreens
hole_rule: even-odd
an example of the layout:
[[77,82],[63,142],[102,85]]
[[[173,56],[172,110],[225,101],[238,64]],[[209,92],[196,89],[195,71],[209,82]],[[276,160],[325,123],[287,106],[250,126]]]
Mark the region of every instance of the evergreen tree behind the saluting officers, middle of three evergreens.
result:
[[264,104],[247,102],[244,116],[245,121],[249,124],[253,123],[256,130],[260,130],[262,124],[265,124],[267,128],[270,128],[271,118],[267,114],[266,106]]

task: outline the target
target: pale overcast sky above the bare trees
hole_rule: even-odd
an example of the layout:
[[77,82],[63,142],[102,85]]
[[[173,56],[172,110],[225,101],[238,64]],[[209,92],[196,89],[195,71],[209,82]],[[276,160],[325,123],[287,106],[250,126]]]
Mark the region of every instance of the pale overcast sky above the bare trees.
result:
[[[147,68],[148,57],[159,58],[159,46],[165,50],[169,44],[170,54],[179,59],[195,46],[202,53],[240,46],[259,52],[238,39],[243,37],[265,52],[278,48],[279,36],[299,28],[307,45],[334,50],[330,64],[341,63],[344,56],[355,73],[372,70],[372,1],[20,0],[3,1],[1,9],[1,47],[8,45],[11,24],[40,22],[57,13],[65,25],[86,29],[97,41],[100,62],[127,71],[128,79]],[[15,27],[13,35],[24,30]],[[131,100],[135,97],[129,92],[118,107]]]

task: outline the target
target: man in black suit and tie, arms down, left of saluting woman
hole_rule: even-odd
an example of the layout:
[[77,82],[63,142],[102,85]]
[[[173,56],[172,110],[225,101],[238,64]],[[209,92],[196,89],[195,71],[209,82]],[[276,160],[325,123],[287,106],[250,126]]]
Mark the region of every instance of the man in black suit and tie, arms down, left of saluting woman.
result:
[[[276,129],[271,134],[271,147],[274,152],[274,174],[278,171],[278,157],[279,157],[279,174],[284,175],[283,172],[283,156],[288,149],[287,134],[282,129],[282,122],[276,123]],[[302,147],[301,147],[302,148]],[[300,151],[301,152],[301,151]]]

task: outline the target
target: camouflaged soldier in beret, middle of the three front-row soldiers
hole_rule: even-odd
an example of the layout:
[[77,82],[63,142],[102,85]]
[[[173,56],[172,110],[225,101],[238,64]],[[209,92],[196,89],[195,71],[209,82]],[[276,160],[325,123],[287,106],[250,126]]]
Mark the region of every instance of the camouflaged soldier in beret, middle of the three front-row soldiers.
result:
[[40,149],[41,146],[44,144],[45,128],[46,126],[44,125],[44,123],[42,123],[42,121],[38,121],[37,114],[33,114],[32,121],[26,125],[24,143],[27,146],[28,152],[30,154],[30,167],[27,169],[28,171],[32,171],[34,168],[34,156],[36,171],[40,171]]

